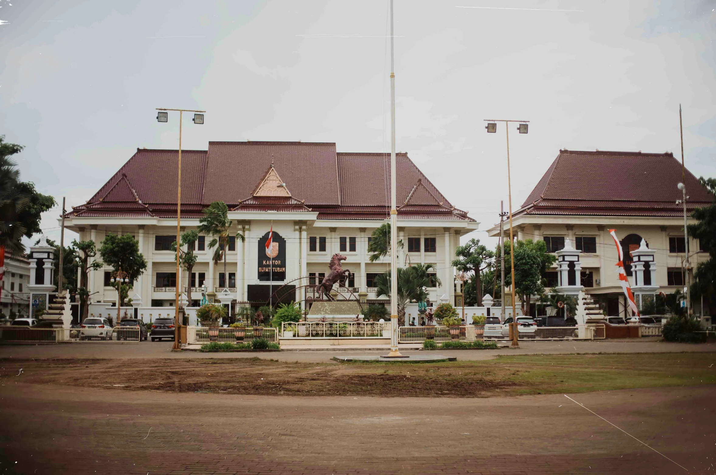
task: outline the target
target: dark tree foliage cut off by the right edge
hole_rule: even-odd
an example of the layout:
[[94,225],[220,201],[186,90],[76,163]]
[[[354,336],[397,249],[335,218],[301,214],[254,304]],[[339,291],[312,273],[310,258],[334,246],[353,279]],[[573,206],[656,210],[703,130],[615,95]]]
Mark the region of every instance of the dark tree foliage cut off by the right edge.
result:
[[705,179],[702,176],[699,181],[714,195],[714,201],[709,206],[695,209],[691,214],[698,221],[689,225],[689,234],[698,239],[702,249],[709,253],[709,259],[696,267],[691,296],[704,296],[711,305],[716,296],[716,178]]

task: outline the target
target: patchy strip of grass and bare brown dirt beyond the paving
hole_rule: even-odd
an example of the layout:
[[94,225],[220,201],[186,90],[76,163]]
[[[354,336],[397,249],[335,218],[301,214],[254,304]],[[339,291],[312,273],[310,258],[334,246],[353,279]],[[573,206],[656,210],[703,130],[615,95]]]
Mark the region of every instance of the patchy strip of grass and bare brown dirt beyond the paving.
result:
[[259,358],[132,359],[128,363],[4,359],[0,381],[17,377],[22,368],[26,383],[131,391],[459,397],[716,383],[715,353],[520,355],[430,364],[289,363]]

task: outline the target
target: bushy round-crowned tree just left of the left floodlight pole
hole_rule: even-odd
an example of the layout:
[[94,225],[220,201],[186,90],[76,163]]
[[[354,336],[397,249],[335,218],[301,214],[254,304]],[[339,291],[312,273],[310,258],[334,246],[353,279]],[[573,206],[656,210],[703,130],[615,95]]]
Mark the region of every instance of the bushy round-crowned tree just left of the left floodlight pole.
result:
[[120,286],[119,281],[115,281],[112,284],[115,289],[120,289],[120,306],[122,306],[130,289],[134,286],[134,281],[147,270],[147,260],[144,259],[144,256],[139,251],[139,241],[131,234],[125,234],[124,236],[107,234],[105,240],[102,241],[100,255],[105,264],[115,271],[122,269],[127,273],[127,278],[130,279],[129,284],[121,284]]

